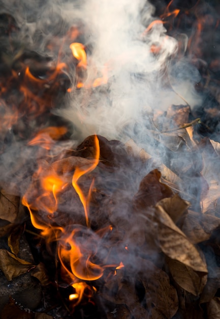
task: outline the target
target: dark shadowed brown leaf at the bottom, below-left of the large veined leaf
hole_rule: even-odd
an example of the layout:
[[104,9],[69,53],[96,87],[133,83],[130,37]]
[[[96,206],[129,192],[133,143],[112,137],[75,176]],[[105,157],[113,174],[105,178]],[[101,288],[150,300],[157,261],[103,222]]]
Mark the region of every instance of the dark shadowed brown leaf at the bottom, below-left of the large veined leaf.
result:
[[145,261],[145,264],[146,273],[141,274],[141,281],[146,290],[147,308],[150,309],[153,304],[165,317],[172,318],[178,310],[176,289],[170,284],[169,277],[164,271],[150,261]]

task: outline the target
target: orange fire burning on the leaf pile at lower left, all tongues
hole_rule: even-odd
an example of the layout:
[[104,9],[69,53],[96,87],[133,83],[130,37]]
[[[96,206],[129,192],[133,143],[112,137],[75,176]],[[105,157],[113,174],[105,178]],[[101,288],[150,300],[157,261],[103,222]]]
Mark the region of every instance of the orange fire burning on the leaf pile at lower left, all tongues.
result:
[[[50,127],[43,129],[29,142],[29,145],[41,145],[42,142],[44,144],[46,141],[46,146],[49,149],[50,143],[47,143],[45,136],[54,140],[65,132],[65,128],[54,129]],[[36,188],[36,184],[38,185],[35,193],[37,192],[39,195],[33,195],[33,191],[30,189],[22,198],[22,204],[29,210],[32,224],[41,230],[41,235],[45,237],[48,243],[57,242],[57,255],[62,267],[62,273],[66,274],[64,277],[69,278],[68,280],[76,290],[75,294],[70,295],[70,301],[74,300],[76,304],[80,302],[82,296],[86,295],[87,298],[90,298],[94,290],[84,282],[79,283],[78,280],[97,280],[103,276],[105,269],[105,267],[95,262],[101,237],[89,229],[89,201],[95,181],[92,180],[87,195],[84,194],[78,184],[81,176],[90,173],[99,164],[100,147],[97,136],[94,136],[94,143],[94,161],[89,166],[77,167],[72,177],[72,187],[84,207],[87,227],[79,225],[77,227],[74,225],[61,227],[54,224],[54,214],[58,210],[61,194],[67,187],[70,187],[71,183],[65,174],[59,175],[53,168],[48,166],[46,161],[39,162],[39,168],[33,176],[34,188]],[[40,212],[47,215],[41,217]]]

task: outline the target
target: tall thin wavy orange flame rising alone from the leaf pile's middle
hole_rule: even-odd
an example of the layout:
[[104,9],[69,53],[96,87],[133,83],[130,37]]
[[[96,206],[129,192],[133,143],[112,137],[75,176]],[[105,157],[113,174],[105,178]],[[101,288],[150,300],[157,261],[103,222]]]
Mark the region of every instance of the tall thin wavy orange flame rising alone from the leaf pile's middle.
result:
[[91,189],[92,189],[92,185],[93,185],[93,182],[91,183],[90,185],[90,189],[89,189],[89,194],[88,196],[86,197],[84,194],[83,194],[83,191],[81,190],[79,184],[78,184],[78,180],[81,176],[87,174],[87,173],[90,173],[91,171],[93,171],[97,165],[99,164],[99,157],[100,157],[100,147],[99,147],[99,139],[98,137],[95,135],[95,149],[96,149],[96,154],[95,154],[95,161],[94,163],[86,168],[86,169],[83,169],[83,168],[76,168],[74,174],[73,174],[73,179],[72,179],[72,184],[73,184],[73,187],[75,189],[75,191],[77,192],[80,200],[81,200],[81,203],[83,205],[83,208],[84,208],[84,212],[85,212],[85,220],[86,220],[86,225],[87,227],[89,227],[89,221],[88,221],[88,205],[89,205],[89,200],[90,200],[90,195],[91,195]]

